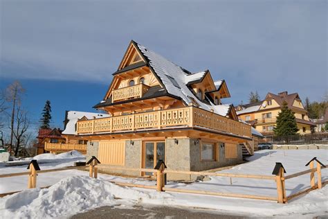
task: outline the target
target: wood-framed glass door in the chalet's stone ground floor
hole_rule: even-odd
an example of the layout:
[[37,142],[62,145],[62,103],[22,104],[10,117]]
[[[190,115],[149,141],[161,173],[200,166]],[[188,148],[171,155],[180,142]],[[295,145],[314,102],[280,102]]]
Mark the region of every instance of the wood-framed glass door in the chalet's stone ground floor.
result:
[[[143,146],[143,168],[152,169],[158,160],[165,161],[165,141],[146,141]],[[152,175],[152,173],[143,173]]]

